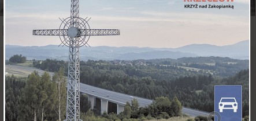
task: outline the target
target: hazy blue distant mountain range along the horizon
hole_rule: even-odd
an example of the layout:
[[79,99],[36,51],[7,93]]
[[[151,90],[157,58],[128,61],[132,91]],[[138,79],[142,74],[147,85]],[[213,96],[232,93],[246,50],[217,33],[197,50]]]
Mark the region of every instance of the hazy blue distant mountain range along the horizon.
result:
[[[5,46],[6,59],[14,54],[22,54],[28,59],[45,60],[52,58],[68,60],[68,47],[58,45],[47,46]],[[136,60],[153,58],[181,58],[198,56],[220,56],[236,59],[249,58],[249,41],[241,41],[233,45],[216,46],[209,44],[192,44],[180,48],[139,48],[134,46],[113,47],[95,46],[80,48],[81,60]]]

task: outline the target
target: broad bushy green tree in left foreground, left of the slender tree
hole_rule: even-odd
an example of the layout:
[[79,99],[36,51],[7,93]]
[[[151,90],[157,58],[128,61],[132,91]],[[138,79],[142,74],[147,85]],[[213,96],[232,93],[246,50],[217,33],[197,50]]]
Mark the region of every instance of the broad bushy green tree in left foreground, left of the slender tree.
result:
[[51,81],[49,73],[44,72],[42,77],[35,72],[29,75],[19,99],[18,120],[56,120],[53,107],[57,96],[57,89]]

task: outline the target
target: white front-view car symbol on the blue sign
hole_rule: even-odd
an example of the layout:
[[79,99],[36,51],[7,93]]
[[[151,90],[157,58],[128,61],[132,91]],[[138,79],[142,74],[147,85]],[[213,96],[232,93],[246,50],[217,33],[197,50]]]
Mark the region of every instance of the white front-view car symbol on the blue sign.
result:
[[224,109],[232,109],[233,112],[236,112],[238,110],[238,102],[236,102],[235,97],[221,97],[218,109],[220,112],[223,112]]

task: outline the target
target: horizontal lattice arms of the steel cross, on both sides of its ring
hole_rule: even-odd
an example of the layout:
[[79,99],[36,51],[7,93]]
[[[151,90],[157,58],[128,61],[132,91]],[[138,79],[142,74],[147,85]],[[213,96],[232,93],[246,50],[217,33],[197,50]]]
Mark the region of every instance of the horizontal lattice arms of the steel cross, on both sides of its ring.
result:
[[[119,29],[77,29],[77,36],[115,36],[120,35]],[[35,36],[68,36],[68,29],[33,30]]]

